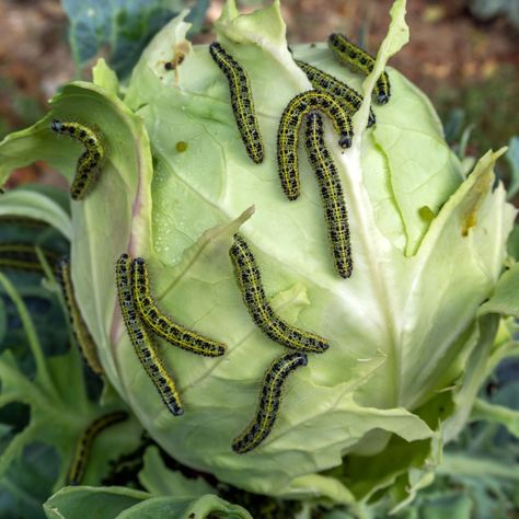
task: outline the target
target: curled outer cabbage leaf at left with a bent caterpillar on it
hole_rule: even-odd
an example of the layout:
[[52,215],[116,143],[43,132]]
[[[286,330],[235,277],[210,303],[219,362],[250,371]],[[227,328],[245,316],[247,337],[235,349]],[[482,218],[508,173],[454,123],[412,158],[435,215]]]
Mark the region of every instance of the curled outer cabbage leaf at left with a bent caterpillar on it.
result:
[[[116,88],[106,66],[97,68],[97,80]],[[0,157],[4,161],[0,182],[13,168],[36,159],[48,161],[66,177],[72,178],[81,147],[72,139],[56,136],[50,130],[53,118],[90,123],[106,137],[108,159],[99,186],[88,204],[71,204],[72,230],[67,232],[73,235],[72,280],[77,299],[100,347],[105,371],[118,387],[117,366],[111,354],[114,342],[108,338],[115,311],[113,265],[129,240],[139,246],[151,239],[152,170],[148,135],[140,118],[113,91],[92,83],[76,82],[64,86],[51,100],[51,106],[45,118],[8,136],[1,143]],[[111,297],[106,297],[108,293]]]

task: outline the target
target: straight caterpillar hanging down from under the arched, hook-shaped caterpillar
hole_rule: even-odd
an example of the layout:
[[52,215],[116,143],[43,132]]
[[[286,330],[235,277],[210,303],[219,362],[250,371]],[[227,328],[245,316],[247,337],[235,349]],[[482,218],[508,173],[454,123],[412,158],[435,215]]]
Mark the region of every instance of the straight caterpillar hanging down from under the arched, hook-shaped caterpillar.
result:
[[324,142],[323,119],[315,112],[307,116],[305,146],[321,191],[335,268],[341,277],[348,278],[354,265],[348,212],[341,177]]

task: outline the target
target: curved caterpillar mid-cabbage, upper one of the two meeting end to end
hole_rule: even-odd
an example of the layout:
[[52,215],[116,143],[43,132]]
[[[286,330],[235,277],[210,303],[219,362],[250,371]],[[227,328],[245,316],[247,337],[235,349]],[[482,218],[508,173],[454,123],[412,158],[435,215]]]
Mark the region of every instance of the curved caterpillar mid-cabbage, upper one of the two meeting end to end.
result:
[[328,348],[328,343],[323,337],[297,328],[276,315],[265,296],[256,260],[242,235],[234,234],[229,255],[237,270],[243,302],[252,320],[265,335],[299,351],[322,354]]

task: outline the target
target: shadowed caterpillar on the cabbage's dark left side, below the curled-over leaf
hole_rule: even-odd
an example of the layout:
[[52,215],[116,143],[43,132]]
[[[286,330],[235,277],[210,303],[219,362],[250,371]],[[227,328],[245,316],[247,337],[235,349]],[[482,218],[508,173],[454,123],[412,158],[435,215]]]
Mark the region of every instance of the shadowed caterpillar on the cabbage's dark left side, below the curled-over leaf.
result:
[[72,324],[72,331],[76,336],[76,341],[83,354],[83,358],[86,360],[90,369],[96,374],[103,374],[104,370],[101,366],[101,361],[97,356],[97,347],[92,338],[92,335],[86,327],[86,323],[81,315],[78,302],[72,286],[72,276],[70,273],[70,260],[64,257],[58,263],[57,278],[61,285],[65,301],[69,309],[70,322]]

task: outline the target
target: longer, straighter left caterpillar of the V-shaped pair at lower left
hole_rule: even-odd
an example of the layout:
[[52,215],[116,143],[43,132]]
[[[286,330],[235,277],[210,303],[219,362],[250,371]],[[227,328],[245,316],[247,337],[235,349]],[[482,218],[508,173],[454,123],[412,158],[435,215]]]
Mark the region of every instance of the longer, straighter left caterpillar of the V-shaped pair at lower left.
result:
[[164,368],[153,338],[141,323],[131,293],[131,267],[128,254],[116,264],[117,295],[126,330],[145,371],[150,377],[168,410],[175,416],[184,414],[175,382]]

